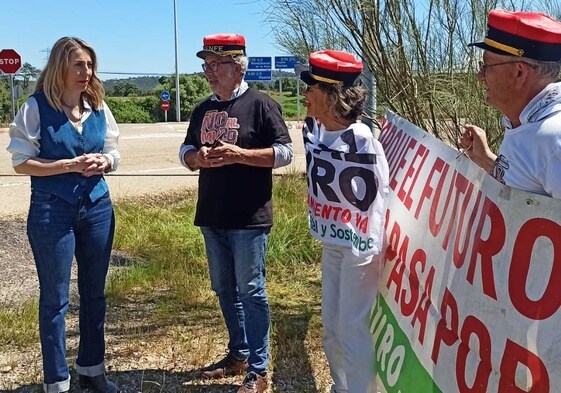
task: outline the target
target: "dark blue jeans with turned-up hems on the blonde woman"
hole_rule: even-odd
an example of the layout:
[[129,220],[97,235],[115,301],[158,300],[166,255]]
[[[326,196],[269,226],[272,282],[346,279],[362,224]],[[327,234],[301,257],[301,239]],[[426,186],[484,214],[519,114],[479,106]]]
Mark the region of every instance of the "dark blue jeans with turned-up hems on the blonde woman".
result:
[[80,294],[76,369],[89,376],[105,372],[104,292],[114,232],[109,193],[94,203],[85,197],[75,205],[50,193],[31,193],[27,235],[39,277],[39,336],[47,385],[69,379],[65,315],[74,256]]

